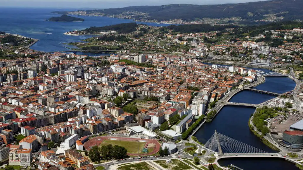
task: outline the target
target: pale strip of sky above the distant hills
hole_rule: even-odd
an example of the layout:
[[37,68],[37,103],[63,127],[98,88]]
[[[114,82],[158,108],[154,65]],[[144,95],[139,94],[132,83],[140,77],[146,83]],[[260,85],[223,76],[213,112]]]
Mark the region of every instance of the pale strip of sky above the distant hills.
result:
[[138,5],[225,4],[264,0],[0,0],[0,7],[120,8]]

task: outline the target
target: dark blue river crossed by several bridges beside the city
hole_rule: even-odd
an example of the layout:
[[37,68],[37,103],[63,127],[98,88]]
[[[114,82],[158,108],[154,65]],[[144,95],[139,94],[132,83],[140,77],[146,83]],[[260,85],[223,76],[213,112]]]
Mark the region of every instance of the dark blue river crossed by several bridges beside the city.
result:
[[[223,65],[223,67],[228,67],[228,65]],[[255,70],[261,70],[264,73],[272,72],[268,69],[255,68]],[[254,88],[275,93],[285,93],[293,90],[295,86],[296,83],[288,77],[266,77],[264,83]],[[233,96],[229,102],[260,104],[275,97],[276,96],[269,94],[243,90]],[[265,152],[275,152],[263,144],[260,139],[250,131],[248,119],[254,111],[255,108],[249,106],[224,106],[213,121],[205,123],[196,132],[195,136],[200,142],[205,143],[214,134],[215,130],[217,130],[217,132],[223,135],[254,146]],[[222,166],[233,164],[245,170],[298,170],[295,164],[278,158],[228,158],[220,159],[218,163]]]

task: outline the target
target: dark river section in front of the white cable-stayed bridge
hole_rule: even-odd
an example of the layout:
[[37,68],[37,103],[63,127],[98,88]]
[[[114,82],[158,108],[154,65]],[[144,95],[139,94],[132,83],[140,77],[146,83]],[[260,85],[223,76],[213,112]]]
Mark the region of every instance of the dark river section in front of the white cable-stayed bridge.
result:
[[298,170],[295,163],[283,158],[222,158],[218,164],[235,165],[244,170]]

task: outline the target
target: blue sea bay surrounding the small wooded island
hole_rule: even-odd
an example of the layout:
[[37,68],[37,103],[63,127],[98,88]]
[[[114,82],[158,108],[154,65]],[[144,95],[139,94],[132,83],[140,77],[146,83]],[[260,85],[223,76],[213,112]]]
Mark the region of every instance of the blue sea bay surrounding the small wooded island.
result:
[[[130,19],[119,19],[109,17],[78,16],[84,18],[84,22],[52,22],[46,19],[53,16],[52,11],[65,11],[54,8],[8,8],[0,7],[0,31],[11,34],[20,34],[30,38],[39,39],[31,49],[38,51],[64,51],[64,43],[78,42],[92,35],[71,36],[64,35],[65,32],[82,30],[91,26],[105,26],[120,23],[134,22]],[[71,10],[71,9],[67,9]],[[148,22],[137,22],[150,26],[167,26],[167,24],[157,24]]]

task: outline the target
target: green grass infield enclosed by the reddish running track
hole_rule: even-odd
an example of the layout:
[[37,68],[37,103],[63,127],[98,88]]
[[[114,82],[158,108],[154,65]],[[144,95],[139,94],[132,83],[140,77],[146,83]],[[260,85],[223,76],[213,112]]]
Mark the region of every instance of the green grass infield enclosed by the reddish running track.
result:
[[[128,153],[141,153],[146,142],[137,142],[137,141],[124,141],[124,140],[104,140],[100,146],[109,145],[113,146],[119,145],[125,147]],[[150,149],[148,150],[150,151]]]

